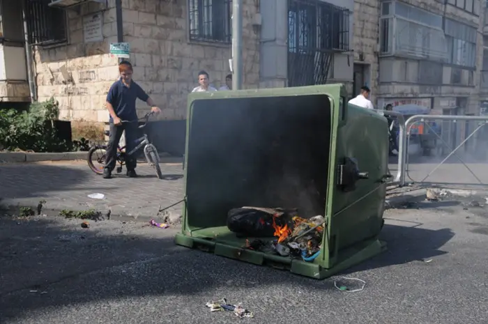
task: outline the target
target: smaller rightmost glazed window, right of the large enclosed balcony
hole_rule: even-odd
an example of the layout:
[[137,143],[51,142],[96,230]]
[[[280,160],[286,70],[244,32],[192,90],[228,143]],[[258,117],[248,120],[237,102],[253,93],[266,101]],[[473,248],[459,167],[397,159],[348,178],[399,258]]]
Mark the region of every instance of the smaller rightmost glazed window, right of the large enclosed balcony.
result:
[[445,20],[448,43],[448,63],[474,68],[476,63],[476,34],[471,26],[454,20]]

